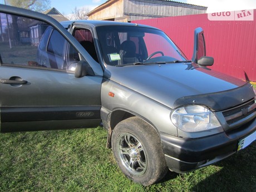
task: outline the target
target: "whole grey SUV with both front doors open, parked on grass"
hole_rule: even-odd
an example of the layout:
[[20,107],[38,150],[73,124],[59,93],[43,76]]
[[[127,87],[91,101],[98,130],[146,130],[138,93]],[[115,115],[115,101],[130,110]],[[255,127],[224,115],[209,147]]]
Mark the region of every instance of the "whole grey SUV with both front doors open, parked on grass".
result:
[[208,66],[203,30],[188,60],[157,28],[58,23],[1,5],[1,132],[102,125],[122,172],[150,185],[255,141],[253,87]]

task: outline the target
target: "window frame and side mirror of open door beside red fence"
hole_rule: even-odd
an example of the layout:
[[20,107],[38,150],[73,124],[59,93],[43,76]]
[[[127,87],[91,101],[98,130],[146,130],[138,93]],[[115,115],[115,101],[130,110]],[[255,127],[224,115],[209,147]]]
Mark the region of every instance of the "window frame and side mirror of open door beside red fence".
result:
[[206,56],[204,30],[198,27],[194,31],[194,52],[192,61],[201,66],[212,66],[214,63],[213,57]]

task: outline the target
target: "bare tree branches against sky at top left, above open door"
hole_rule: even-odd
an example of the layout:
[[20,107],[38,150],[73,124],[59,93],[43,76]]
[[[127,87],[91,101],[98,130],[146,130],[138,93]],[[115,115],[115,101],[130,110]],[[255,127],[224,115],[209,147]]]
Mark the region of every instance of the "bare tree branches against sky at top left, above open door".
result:
[[32,11],[44,12],[51,8],[51,0],[5,0],[7,4],[14,7],[30,9]]

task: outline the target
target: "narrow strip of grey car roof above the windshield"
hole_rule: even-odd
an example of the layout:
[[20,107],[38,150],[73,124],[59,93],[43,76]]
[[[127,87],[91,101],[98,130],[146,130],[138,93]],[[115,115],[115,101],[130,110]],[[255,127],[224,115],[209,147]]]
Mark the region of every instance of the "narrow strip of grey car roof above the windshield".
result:
[[126,23],[126,22],[116,22],[116,21],[98,21],[98,20],[74,20],[74,21],[63,21],[61,22],[62,26],[68,28],[71,24],[81,24],[91,27],[98,27],[98,26],[140,26],[146,28],[154,28],[151,26],[146,26],[144,24],[137,24],[137,23]]

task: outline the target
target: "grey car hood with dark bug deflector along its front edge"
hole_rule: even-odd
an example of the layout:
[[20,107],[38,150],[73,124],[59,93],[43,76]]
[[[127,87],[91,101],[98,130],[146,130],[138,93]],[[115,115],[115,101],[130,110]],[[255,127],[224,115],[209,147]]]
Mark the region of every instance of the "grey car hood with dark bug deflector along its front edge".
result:
[[107,66],[105,77],[170,108],[223,110],[254,97],[249,83],[195,64]]

